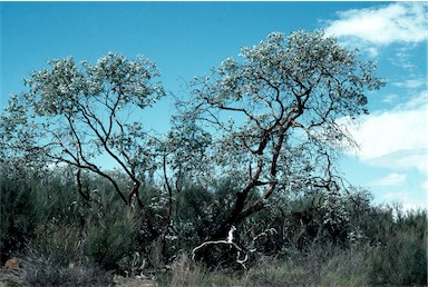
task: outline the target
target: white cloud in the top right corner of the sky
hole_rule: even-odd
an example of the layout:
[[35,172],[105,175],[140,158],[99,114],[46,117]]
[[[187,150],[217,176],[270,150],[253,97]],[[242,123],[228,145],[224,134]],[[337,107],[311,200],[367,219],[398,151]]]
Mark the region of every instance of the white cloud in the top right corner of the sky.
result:
[[328,22],[325,33],[357,37],[376,44],[422,42],[428,39],[427,7],[425,2],[396,2],[376,9],[341,11],[339,20]]

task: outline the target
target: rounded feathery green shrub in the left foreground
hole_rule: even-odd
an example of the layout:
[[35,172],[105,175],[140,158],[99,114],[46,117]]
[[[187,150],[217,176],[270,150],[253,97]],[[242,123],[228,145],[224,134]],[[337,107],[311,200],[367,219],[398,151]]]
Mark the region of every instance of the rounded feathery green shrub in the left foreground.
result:
[[36,228],[23,256],[29,286],[107,286],[106,271],[84,254],[85,237],[77,225],[51,219]]

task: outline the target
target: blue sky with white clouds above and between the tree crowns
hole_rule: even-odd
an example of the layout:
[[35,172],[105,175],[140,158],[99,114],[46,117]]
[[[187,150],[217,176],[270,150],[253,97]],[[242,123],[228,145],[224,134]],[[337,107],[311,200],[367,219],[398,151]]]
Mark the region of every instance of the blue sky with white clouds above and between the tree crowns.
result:
[[[379,204],[426,207],[427,10],[426,2],[0,2],[0,109],[47,59],[144,55],[179,95],[269,32],[323,28],[377,61],[387,79],[369,95],[371,115],[349,127],[361,149],[342,160],[343,172]],[[166,130],[171,112],[166,98],[147,110],[145,126]]]

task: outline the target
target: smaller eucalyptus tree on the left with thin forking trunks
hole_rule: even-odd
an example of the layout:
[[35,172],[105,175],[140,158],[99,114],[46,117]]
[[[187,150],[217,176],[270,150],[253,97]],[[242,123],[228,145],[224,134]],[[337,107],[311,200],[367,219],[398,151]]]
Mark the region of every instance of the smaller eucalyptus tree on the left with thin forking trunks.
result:
[[[27,91],[12,95],[1,116],[3,150],[22,164],[43,160],[76,167],[78,190],[87,200],[81,172],[106,178],[126,205],[137,202],[156,235],[139,197],[142,180],[155,168],[156,140],[138,115],[165,96],[157,67],[144,57],[128,60],[116,53],[96,65],[76,63],[71,57],[48,65],[25,80]],[[106,161],[127,175],[129,190],[106,172]]]

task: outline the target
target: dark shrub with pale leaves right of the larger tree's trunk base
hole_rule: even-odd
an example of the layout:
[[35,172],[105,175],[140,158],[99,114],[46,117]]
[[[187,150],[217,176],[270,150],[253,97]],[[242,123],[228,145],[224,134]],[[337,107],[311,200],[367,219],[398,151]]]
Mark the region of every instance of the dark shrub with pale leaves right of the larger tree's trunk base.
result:
[[359,191],[312,192],[300,196],[278,194],[273,197],[275,204],[247,219],[243,228],[251,230],[253,237],[264,230],[275,230],[270,232],[264,246],[257,240],[259,249],[271,253],[290,247],[304,249],[315,243],[344,246],[350,244],[351,232],[360,230],[361,222],[366,220],[360,218],[359,212],[360,209],[369,208],[366,200],[367,196],[359,195]]

